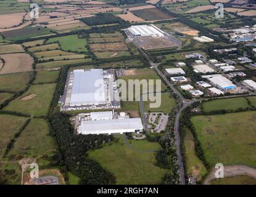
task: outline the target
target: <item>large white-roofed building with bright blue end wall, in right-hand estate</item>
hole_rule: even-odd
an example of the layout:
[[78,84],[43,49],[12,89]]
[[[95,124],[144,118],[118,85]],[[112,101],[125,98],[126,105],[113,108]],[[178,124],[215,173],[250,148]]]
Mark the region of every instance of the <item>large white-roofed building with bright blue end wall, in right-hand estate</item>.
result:
[[232,81],[225,78],[221,74],[204,75],[202,78],[208,79],[213,85],[220,87],[221,89],[234,89],[236,86]]

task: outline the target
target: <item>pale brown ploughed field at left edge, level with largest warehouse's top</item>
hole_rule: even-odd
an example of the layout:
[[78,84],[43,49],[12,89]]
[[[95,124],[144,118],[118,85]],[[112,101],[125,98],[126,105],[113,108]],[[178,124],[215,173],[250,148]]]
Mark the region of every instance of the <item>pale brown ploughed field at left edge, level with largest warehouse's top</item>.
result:
[[0,57],[5,61],[0,74],[20,73],[32,70],[34,60],[29,54],[2,54]]

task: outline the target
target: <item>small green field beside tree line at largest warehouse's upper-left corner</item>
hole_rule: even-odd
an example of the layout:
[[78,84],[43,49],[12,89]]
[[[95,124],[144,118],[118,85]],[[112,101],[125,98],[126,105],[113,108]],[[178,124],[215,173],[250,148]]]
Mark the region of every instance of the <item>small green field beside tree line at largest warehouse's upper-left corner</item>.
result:
[[54,70],[54,71],[38,71],[36,73],[36,79],[33,82],[34,84],[39,84],[39,83],[47,83],[47,82],[56,82],[57,79],[59,78],[59,70]]

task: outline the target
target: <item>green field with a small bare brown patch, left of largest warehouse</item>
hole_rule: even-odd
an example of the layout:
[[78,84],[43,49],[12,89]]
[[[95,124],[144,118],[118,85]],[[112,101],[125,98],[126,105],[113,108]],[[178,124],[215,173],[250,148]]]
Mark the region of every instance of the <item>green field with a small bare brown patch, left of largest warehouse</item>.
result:
[[[56,84],[33,85],[23,95],[10,102],[4,110],[34,116],[47,115],[55,88]],[[30,94],[35,94],[36,97],[27,101],[21,100],[21,98]]]

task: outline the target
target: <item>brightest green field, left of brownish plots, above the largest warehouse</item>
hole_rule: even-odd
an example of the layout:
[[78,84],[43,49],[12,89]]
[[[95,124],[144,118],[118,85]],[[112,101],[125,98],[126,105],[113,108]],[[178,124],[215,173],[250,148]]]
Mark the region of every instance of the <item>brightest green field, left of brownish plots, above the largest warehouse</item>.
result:
[[62,36],[57,38],[50,38],[46,43],[57,42],[60,43],[62,50],[72,52],[87,52],[86,39],[78,38],[78,35]]

